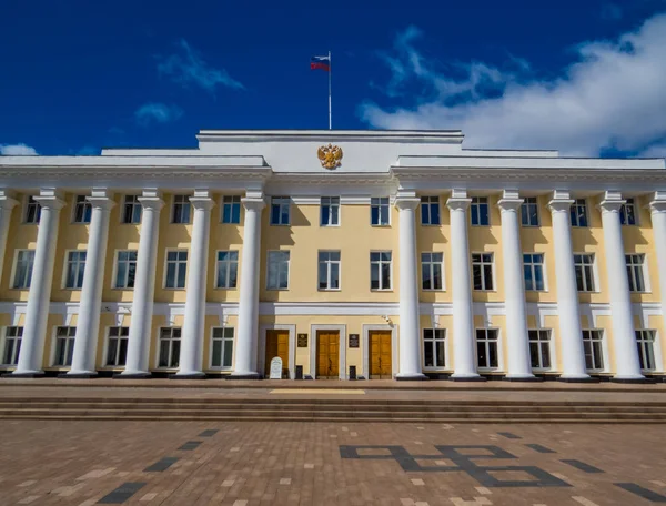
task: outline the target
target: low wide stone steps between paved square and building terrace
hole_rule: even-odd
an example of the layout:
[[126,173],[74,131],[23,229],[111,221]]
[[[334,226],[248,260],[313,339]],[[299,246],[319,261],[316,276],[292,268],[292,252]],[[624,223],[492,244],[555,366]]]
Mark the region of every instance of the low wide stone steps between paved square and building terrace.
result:
[[410,423],[666,423],[666,402],[6,397],[0,419]]

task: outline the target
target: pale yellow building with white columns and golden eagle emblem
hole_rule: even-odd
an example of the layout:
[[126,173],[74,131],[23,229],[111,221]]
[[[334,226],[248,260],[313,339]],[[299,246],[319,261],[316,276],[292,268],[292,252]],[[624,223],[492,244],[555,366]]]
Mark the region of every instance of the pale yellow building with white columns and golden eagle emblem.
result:
[[663,159],[460,131],[0,156],[6,374],[665,375]]

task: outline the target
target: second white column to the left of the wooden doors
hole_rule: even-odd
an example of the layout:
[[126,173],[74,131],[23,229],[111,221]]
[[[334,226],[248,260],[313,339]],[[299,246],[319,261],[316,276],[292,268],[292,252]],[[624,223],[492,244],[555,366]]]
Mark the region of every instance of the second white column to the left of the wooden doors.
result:
[[185,320],[181,338],[180,367],[175,377],[203,377],[203,340],[205,333],[205,292],[211,209],[215,205],[208,191],[195,191],[190,198],[194,208],[192,241],[188,265]]

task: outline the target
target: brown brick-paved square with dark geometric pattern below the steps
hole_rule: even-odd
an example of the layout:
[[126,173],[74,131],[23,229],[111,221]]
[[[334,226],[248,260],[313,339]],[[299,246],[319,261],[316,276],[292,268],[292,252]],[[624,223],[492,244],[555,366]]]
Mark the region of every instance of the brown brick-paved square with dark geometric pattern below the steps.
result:
[[0,505],[666,504],[666,426],[0,421]]

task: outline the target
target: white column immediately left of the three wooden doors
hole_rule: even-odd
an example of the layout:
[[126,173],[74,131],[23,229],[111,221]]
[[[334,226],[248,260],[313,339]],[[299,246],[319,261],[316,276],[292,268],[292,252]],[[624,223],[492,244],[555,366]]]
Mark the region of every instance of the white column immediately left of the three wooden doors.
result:
[[239,332],[235,340],[235,364],[232,376],[256,378],[256,333],[259,326],[259,259],[261,245],[261,212],[263,198],[248,196],[241,201],[245,209],[243,221],[243,253],[241,259]]

